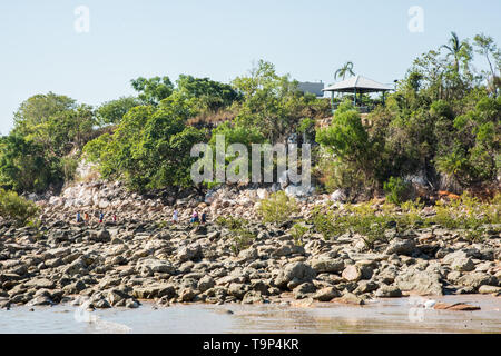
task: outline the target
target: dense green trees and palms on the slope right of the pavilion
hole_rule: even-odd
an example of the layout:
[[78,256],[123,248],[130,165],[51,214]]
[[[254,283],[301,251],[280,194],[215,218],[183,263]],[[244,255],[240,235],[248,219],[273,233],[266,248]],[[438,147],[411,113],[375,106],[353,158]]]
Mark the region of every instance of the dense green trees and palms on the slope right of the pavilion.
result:
[[[489,71],[473,70],[474,51],[487,58]],[[477,36],[470,44],[453,33],[449,44],[414,61],[396,92],[364,118],[367,125],[350,102],[341,105],[332,125],[316,135],[327,188],[357,194],[386,182],[395,192],[397,179],[413,175],[435,189],[495,184],[500,70],[501,52],[492,39]]]

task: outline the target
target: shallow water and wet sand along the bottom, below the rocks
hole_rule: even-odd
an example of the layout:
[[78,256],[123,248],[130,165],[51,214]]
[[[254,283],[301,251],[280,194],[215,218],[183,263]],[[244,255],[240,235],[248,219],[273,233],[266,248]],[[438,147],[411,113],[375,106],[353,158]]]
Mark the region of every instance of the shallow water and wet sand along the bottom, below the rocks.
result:
[[[176,305],[154,309],[14,307],[0,310],[0,333],[501,333],[501,298],[445,296],[436,301],[469,303],[478,312],[418,307],[418,298],[379,299],[365,306],[334,303],[284,305]],[[228,313],[233,312],[233,314]]]

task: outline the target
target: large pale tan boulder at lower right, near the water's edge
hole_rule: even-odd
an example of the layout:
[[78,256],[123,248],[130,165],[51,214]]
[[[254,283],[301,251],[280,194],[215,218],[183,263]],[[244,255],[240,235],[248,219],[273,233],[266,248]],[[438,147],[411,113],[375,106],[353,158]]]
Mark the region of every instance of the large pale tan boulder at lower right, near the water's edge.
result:
[[407,269],[396,276],[395,286],[401,290],[418,291],[420,295],[443,295],[440,275],[433,271]]

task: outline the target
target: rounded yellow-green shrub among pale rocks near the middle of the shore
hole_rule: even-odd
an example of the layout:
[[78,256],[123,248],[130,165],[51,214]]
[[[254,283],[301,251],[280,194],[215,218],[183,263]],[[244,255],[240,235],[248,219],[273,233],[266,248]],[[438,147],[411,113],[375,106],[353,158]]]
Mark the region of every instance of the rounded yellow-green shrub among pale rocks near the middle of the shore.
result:
[[258,212],[263,217],[263,222],[283,224],[298,210],[296,199],[281,190],[272,194],[268,199],[263,199]]

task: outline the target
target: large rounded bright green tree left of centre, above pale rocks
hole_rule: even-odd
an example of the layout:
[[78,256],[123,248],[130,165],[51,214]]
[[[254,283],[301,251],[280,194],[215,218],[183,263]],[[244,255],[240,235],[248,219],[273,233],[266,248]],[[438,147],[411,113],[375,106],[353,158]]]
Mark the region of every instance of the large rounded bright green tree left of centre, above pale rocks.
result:
[[190,186],[190,149],[205,132],[186,126],[188,107],[174,97],[135,107],[112,135],[88,142],[85,151],[105,178],[121,178],[134,190]]

